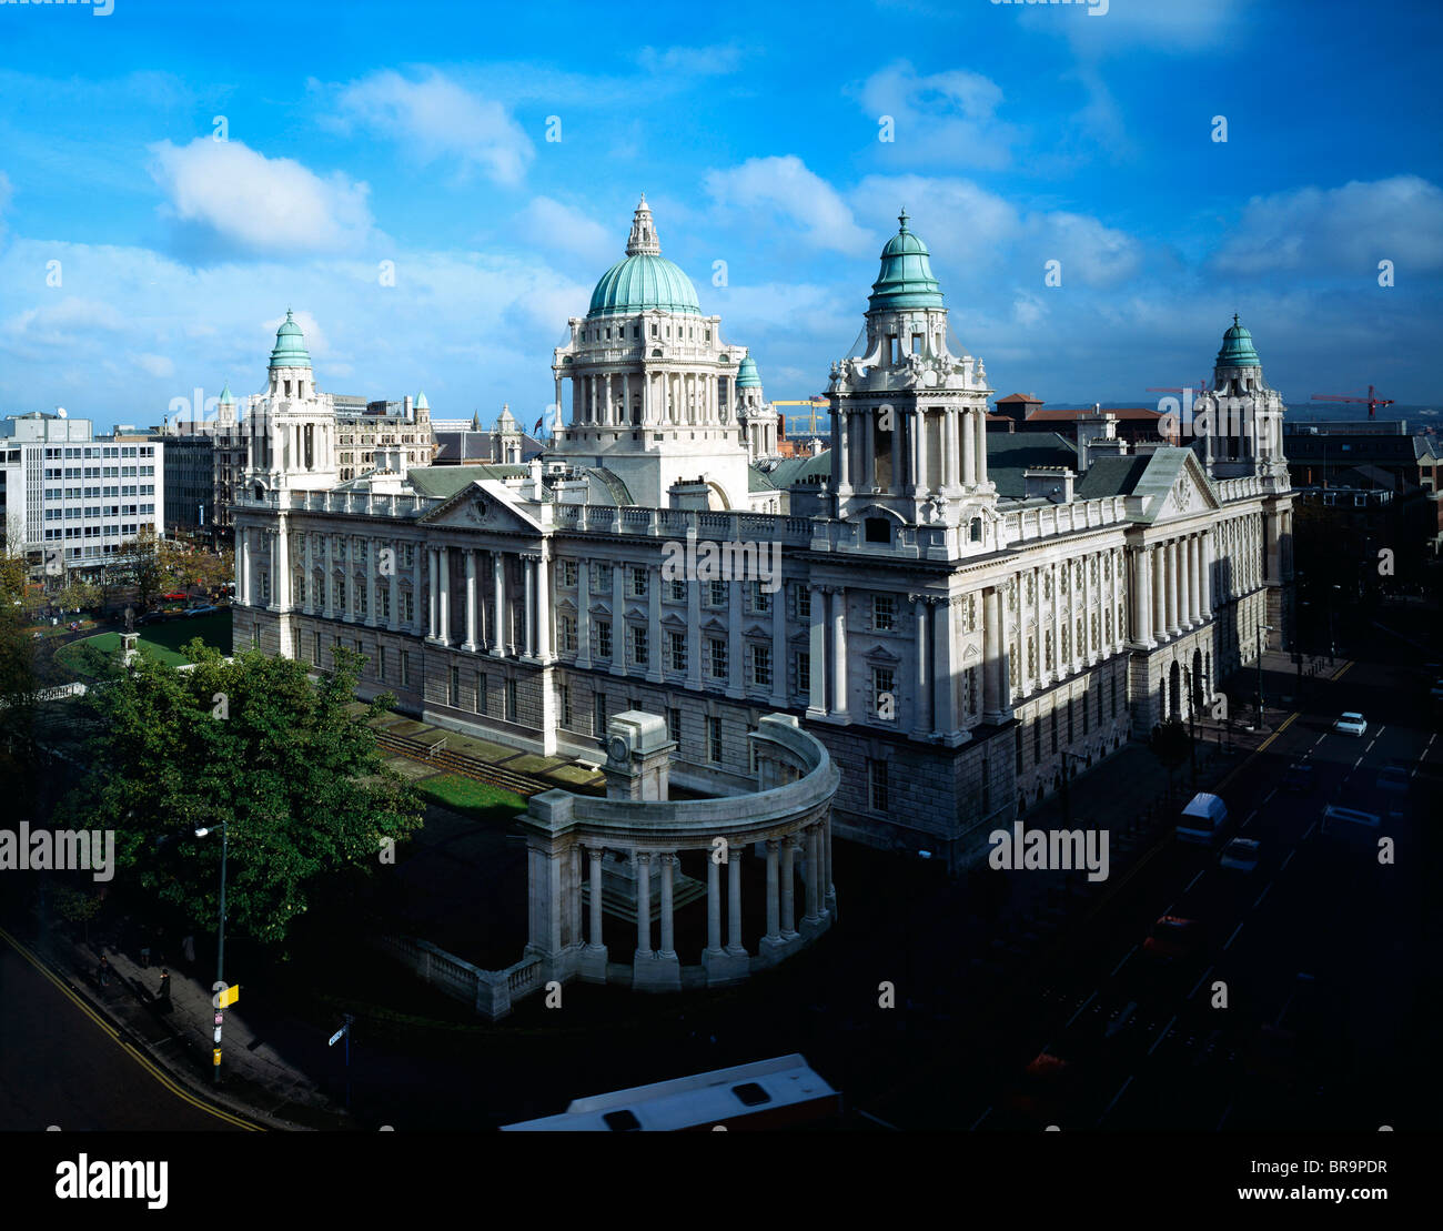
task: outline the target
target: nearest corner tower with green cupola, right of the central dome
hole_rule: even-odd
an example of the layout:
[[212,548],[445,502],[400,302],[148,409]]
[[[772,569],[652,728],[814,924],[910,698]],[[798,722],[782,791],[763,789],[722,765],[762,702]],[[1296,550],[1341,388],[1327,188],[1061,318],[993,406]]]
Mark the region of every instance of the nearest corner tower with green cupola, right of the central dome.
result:
[[[882,250],[866,326],[831,365],[835,515],[955,530],[955,554],[994,550],[996,486],[987,478],[987,372],[949,343],[942,290],[909,225]],[[892,535],[886,535],[890,538]]]

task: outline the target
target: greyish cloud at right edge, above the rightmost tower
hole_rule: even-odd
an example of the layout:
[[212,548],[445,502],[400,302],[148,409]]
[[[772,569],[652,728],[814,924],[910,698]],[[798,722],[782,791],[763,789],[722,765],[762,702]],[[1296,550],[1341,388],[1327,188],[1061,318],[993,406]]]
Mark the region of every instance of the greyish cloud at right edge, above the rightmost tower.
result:
[[1254,196],[1215,257],[1229,273],[1377,277],[1378,261],[1443,268],[1443,190],[1414,175]]

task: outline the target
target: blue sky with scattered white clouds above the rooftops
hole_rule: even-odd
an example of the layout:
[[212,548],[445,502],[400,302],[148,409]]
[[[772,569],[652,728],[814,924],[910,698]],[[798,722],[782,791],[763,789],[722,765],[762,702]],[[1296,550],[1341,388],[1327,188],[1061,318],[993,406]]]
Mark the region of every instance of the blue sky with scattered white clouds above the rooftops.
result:
[[773,398],[905,205],[999,395],[1154,403],[1240,312],[1294,404],[1443,400],[1443,12],[1105,7],[0,3],[0,413],[257,391],[293,307],[323,390],[530,423],[642,190]]

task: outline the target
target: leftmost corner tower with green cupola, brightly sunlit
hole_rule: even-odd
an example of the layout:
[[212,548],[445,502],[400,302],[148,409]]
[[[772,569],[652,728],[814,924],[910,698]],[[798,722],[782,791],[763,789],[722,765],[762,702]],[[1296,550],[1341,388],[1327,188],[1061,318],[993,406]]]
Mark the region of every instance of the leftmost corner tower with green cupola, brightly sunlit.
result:
[[306,339],[296,316],[276,330],[266,393],[253,398],[245,416],[253,491],[320,491],[339,482],[336,414],[330,397],[316,388]]

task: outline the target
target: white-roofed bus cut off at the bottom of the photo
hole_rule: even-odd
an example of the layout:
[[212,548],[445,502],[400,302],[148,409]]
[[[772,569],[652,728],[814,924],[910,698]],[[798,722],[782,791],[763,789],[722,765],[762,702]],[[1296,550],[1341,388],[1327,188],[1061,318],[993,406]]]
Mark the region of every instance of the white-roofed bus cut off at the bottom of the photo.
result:
[[841,1114],[841,1095],[801,1055],[719,1068],[576,1098],[558,1116],[502,1133],[674,1133],[812,1127]]

